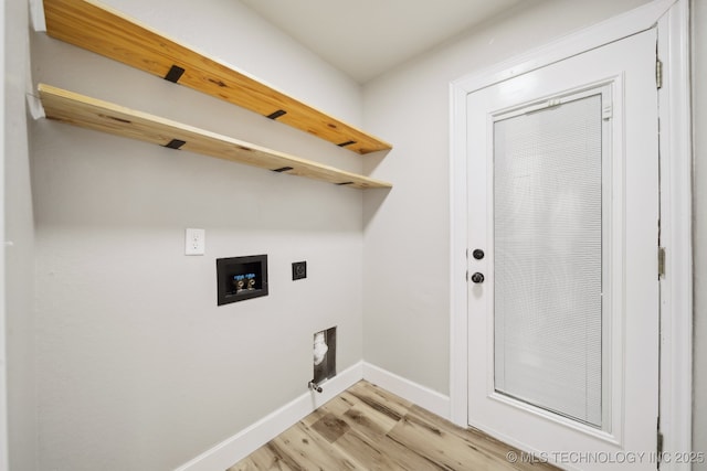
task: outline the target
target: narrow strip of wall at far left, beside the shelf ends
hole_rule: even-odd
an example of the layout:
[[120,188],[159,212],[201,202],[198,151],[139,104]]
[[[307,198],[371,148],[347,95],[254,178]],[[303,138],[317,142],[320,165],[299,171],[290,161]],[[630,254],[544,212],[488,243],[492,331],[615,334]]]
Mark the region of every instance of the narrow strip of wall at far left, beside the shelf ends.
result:
[[36,397],[34,353],[34,255],[30,160],[24,92],[29,63],[24,0],[3,2],[4,51],[4,240],[6,342],[8,355],[9,461],[34,470]]

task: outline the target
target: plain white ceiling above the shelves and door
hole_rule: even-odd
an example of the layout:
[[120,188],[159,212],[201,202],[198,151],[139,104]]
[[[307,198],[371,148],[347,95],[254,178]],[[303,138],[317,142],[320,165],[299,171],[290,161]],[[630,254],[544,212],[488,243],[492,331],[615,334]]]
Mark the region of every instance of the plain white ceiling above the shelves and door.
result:
[[241,0],[358,83],[528,0]]

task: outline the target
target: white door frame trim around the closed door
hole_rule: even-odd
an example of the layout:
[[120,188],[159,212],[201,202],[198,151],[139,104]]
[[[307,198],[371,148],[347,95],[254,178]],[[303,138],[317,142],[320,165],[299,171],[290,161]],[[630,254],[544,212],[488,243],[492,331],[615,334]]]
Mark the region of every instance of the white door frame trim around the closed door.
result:
[[[666,247],[666,276],[659,283],[658,407],[664,437],[663,450],[692,450],[693,157],[689,0],[654,0],[450,84],[450,419],[458,426],[468,425],[466,96],[479,88],[646,31],[656,24],[658,56],[663,62],[663,86],[658,92],[661,245]],[[689,463],[662,465],[668,470],[689,470]]]

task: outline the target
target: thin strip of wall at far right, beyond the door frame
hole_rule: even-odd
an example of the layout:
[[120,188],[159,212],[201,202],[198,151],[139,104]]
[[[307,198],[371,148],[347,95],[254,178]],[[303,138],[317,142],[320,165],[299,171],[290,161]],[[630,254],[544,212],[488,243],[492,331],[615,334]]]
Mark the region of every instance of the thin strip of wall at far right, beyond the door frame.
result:
[[[707,3],[693,0],[693,129],[695,151],[694,180],[694,270],[695,270],[695,351],[693,449],[707,453]],[[707,470],[707,462],[694,470]]]

